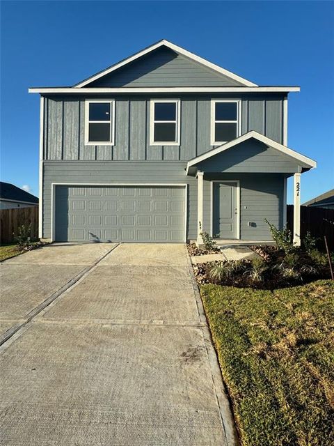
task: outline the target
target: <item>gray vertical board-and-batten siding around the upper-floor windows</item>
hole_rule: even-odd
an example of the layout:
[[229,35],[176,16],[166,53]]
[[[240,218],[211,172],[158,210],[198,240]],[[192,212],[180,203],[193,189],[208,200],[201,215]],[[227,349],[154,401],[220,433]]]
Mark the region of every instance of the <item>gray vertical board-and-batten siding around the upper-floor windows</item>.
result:
[[[159,96],[163,98],[162,96]],[[86,146],[85,100],[83,98],[50,96],[45,98],[44,160],[95,161],[188,161],[210,151],[211,99],[241,99],[241,133],[256,130],[283,142],[283,95],[174,95],[180,99],[180,146],[150,146],[150,99],[137,95],[107,95],[114,99],[115,145]],[[101,98],[101,97],[100,97]],[[164,98],[167,98],[165,95]],[[90,96],[90,99],[94,99]]]

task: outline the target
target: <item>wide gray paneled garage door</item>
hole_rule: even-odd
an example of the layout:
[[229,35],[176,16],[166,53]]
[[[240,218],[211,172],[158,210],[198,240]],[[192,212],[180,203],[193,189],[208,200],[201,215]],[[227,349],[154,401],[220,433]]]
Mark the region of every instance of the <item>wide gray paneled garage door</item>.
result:
[[184,187],[56,186],[55,240],[184,242]]

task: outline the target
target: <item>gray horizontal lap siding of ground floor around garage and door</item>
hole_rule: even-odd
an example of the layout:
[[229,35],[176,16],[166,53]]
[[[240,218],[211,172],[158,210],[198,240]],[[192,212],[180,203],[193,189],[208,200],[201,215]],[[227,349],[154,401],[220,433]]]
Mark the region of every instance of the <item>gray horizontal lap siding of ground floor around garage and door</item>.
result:
[[[197,238],[197,180],[186,176],[184,162],[44,162],[43,238],[51,237],[51,183],[66,184],[187,184],[187,238]],[[267,218],[283,225],[281,174],[206,174],[203,229],[211,233],[212,179],[240,180],[241,239],[271,240]],[[248,222],[252,226],[248,226]]]

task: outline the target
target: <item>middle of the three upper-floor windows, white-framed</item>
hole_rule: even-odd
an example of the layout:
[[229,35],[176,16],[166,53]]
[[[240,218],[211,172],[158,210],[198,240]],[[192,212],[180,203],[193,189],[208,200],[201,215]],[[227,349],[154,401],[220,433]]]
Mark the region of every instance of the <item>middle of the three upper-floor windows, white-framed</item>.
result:
[[180,100],[152,100],[150,145],[180,145]]

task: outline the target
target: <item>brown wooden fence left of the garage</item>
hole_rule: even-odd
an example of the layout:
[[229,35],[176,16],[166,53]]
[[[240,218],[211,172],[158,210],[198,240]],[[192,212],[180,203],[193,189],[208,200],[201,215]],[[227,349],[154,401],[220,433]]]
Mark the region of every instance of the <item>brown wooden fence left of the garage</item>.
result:
[[31,208],[0,209],[0,244],[15,243],[13,233],[19,226],[31,224],[31,239],[38,238],[38,206]]

